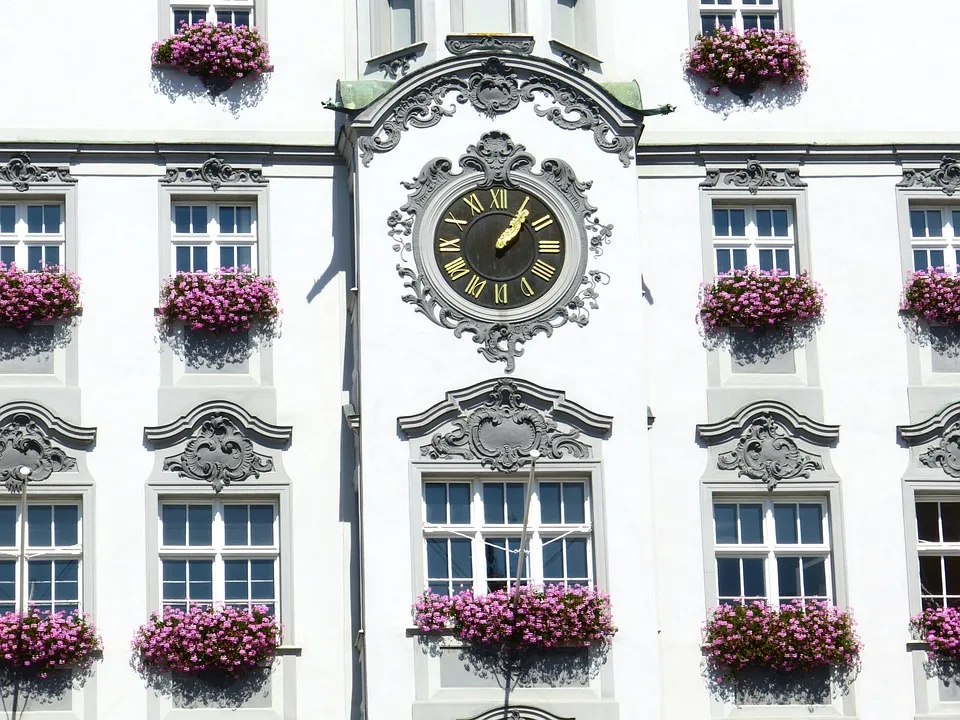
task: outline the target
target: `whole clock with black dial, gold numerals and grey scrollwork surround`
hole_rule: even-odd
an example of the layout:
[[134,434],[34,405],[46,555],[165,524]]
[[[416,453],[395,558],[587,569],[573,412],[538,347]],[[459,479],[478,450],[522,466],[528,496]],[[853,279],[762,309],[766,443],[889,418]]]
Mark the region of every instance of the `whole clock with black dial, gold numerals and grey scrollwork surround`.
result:
[[[564,161],[534,157],[506,133],[490,132],[453,163],[437,158],[391,213],[388,234],[404,264],[406,302],[512,372],[523,344],[567,323],[584,326],[598,284],[588,256],[603,252],[612,226],[591,217],[591,183]],[[407,253],[413,255],[411,267]]]

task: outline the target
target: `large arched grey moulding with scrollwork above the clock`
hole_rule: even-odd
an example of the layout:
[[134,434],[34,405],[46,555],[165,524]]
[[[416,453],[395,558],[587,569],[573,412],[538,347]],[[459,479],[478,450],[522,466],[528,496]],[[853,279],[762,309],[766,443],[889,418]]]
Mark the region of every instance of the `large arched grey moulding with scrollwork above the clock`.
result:
[[617,102],[600,85],[561,63],[535,56],[478,52],[450,57],[401,78],[351,118],[348,132],[363,165],[393,150],[411,128],[429,128],[458,105],[496,118],[533,103],[534,112],[564,130],[585,130],[597,147],[629,167],[648,111]]

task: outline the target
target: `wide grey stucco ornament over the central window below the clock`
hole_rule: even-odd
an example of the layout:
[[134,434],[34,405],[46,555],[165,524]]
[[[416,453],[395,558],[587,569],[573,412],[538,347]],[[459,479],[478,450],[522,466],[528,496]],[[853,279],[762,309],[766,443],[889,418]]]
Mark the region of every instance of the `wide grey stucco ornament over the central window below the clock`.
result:
[[491,470],[512,472],[530,463],[530,452],[542,457],[585,458],[590,447],[577,440],[579,430],[562,432],[557,423],[523,402],[516,383],[500,380],[487,402],[453,422],[453,430],[437,433],[420,455],[431,460],[460,457],[479,460]]

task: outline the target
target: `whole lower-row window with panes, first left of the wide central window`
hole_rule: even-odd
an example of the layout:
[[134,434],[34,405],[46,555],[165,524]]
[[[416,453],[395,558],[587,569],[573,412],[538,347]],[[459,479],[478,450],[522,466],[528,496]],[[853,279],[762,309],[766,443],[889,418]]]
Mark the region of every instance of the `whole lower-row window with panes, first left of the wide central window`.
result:
[[277,612],[280,544],[276,503],[163,502],[163,607],[205,605]]

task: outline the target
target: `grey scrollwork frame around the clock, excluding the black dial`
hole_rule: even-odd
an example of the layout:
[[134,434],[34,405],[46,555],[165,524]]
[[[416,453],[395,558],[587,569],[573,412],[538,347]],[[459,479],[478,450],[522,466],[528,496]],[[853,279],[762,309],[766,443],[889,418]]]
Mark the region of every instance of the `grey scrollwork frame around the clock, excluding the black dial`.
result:
[[[490,362],[503,362],[506,372],[513,372],[527,340],[539,334],[549,337],[568,323],[583,327],[589,322],[590,310],[599,307],[597,286],[606,285],[610,278],[588,269],[588,260],[591,253],[603,254],[613,226],[602,224],[594,215],[597,208],[586,196],[592,182],[578,180],[573,168],[556,158],[544,160],[537,171],[534,156],[506,133],[484,133],[458,162],[460,172],[456,173],[448,158],[424,165],[417,177],[403,183],[410,191],[407,202],[387,219],[387,234],[401,258],[397,272],[410,291],[403,300],[457,337],[472,335],[480,346],[477,352]],[[433,253],[435,229],[449,202],[466,189],[495,185],[549,201],[566,243],[566,261],[556,282],[535,302],[519,308],[484,308],[459,296],[444,282]]]

